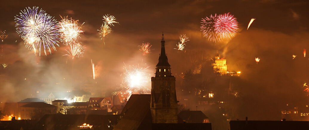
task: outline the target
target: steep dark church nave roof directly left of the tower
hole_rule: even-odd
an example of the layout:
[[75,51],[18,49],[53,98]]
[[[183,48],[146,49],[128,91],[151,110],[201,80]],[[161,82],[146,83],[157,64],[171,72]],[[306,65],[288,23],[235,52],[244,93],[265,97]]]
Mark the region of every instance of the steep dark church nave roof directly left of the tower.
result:
[[[114,130],[136,130],[140,125],[150,125],[150,94],[131,95],[120,115],[123,117]],[[150,119],[150,123],[142,123],[146,118]]]

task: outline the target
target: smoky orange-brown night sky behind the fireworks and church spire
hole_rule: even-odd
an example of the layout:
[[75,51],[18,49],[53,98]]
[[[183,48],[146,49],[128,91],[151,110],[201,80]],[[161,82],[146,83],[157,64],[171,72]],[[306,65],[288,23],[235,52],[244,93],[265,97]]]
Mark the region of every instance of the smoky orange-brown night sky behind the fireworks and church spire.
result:
[[[303,91],[303,83],[309,82],[309,55],[303,57],[303,49],[309,51],[309,2],[306,0],[2,1],[0,30],[6,30],[8,38],[0,43],[3,46],[0,63],[8,67],[0,69],[0,100],[19,101],[37,90],[64,91],[70,85],[62,80],[70,78],[72,64],[70,58],[67,61],[62,56],[66,53],[65,45],[59,43],[60,47],[52,55],[39,57],[24,47],[16,33],[14,16],[28,6],[42,8],[57,21],[61,15],[79,20],[80,24],[85,22],[82,28],[85,32],[78,39],[85,47],[84,55],[74,59],[75,79],[82,79],[78,83],[90,82],[91,59],[98,71],[97,80],[104,88],[112,89],[122,83],[124,63],[127,67],[149,67],[147,74],[154,76],[164,31],[172,75],[196,67],[192,60],[210,60],[217,51],[227,59],[228,71],[242,72],[240,78],[247,82],[245,95],[250,97],[248,106],[243,107],[248,108],[245,112],[251,119],[277,119],[273,113],[280,112],[279,105],[308,103]],[[217,43],[203,38],[201,18],[228,12],[239,22],[237,35]],[[106,47],[103,47],[97,30],[105,14],[114,15],[120,24],[111,27],[112,33],[105,38]],[[246,30],[251,18],[256,20]],[[181,34],[190,40],[186,52],[173,49]],[[147,42],[152,45],[151,53],[143,56],[138,46]],[[292,55],[297,57],[292,59]],[[256,57],[260,58],[258,64]]]

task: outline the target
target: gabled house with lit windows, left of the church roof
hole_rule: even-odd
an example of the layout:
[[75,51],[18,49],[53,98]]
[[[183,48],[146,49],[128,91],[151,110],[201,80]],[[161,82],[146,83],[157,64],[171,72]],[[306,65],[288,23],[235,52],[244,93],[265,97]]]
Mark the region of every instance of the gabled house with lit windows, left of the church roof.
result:
[[110,97],[93,97],[89,99],[88,110],[107,110],[112,112],[112,99]]

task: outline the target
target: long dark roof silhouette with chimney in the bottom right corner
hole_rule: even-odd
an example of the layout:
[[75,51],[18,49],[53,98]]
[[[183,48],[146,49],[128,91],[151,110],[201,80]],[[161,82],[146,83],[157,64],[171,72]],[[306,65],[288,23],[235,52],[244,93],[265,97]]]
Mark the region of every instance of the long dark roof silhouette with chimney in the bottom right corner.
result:
[[308,121],[231,120],[231,130],[292,130],[309,129]]

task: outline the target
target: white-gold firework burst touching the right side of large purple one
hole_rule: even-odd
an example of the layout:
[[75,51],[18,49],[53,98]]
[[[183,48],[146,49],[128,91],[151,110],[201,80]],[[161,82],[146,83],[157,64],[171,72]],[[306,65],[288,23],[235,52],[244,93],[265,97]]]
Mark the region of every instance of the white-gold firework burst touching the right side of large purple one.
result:
[[83,24],[78,26],[78,20],[74,20],[72,18],[69,19],[68,16],[61,17],[61,21],[59,22],[58,26],[58,32],[61,35],[61,39],[65,45],[73,43],[77,38],[80,38],[80,35],[84,32],[81,30]]

